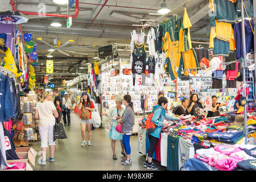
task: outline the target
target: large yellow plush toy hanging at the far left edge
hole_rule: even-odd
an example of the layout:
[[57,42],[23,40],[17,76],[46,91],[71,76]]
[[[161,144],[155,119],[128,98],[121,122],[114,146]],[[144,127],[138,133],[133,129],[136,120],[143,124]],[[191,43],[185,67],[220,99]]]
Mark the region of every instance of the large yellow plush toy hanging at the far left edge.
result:
[[9,71],[11,71],[15,77],[20,77],[20,75],[22,74],[17,73],[18,69],[15,65],[15,61],[13,59],[13,55],[11,53],[11,50],[9,49],[9,47],[6,46],[2,46],[3,42],[0,42],[0,48],[2,48],[3,50],[1,50],[0,53],[3,53],[5,55],[5,57],[3,57],[3,61],[5,62],[5,65],[3,66],[3,68],[8,69]]

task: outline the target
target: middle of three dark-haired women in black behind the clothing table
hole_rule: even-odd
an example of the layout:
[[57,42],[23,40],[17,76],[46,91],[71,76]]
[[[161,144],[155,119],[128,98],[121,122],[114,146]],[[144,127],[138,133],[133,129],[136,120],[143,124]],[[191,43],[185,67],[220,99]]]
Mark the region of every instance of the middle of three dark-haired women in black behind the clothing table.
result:
[[199,100],[196,93],[192,93],[189,98],[188,112],[191,115],[204,115],[200,109],[204,109],[204,102]]

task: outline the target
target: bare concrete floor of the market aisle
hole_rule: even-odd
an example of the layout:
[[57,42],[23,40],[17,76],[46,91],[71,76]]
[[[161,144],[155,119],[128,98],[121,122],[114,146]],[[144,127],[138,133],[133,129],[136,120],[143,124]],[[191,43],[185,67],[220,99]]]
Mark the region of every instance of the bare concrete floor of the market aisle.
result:
[[[63,121],[62,121],[63,122]],[[138,138],[132,136],[131,145],[131,165],[122,165],[120,142],[116,141],[115,152],[118,160],[113,160],[111,139],[108,137],[109,131],[98,128],[92,130],[92,146],[81,147],[81,131],[79,116],[71,113],[71,127],[65,126],[67,139],[57,140],[55,148],[55,162],[46,162],[46,166],[38,164],[39,156],[36,157],[34,170],[36,171],[151,171],[142,166],[145,156],[138,152]],[[87,139],[87,138],[86,138]],[[36,151],[40,151],[40,141],[30,142],[30,146]],[[47,150],[47,158],[49,150]],[[159,170],[166,170],[166,167],[154,160]]]

